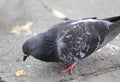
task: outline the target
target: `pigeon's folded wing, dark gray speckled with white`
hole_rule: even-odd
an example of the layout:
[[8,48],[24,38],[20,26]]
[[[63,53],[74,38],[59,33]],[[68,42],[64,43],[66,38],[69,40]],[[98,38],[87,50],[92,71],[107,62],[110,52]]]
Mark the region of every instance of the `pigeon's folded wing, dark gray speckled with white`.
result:
[[[75,21],[59,29],[58,56],[63,61],[78,61],[100,48],[109,30],[106,21]],[[62,27],[62,26],[61,26]]]

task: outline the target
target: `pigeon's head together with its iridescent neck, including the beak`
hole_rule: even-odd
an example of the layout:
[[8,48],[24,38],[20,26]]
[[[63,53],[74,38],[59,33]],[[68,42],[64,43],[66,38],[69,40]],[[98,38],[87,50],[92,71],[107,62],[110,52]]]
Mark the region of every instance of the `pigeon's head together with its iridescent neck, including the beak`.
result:
[[22,47],[23,53],[25,54],[23,61],[30,55],[42,61],[51,61],[53,58],[51,55],[55,52],[54,42],[55,40],[53,38],[44,33],[28,39]]

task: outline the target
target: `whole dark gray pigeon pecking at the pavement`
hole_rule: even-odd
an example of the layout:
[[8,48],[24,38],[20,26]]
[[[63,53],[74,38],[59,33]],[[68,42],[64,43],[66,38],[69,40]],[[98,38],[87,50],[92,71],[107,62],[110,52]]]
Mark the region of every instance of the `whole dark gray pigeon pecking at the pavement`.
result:
[[68,62],[70,72],[82,59],[104,47],[120,33],[120,16],[84,18],[56,24],[28,39],[22,46],[23,61],[33,56],[45,62]]

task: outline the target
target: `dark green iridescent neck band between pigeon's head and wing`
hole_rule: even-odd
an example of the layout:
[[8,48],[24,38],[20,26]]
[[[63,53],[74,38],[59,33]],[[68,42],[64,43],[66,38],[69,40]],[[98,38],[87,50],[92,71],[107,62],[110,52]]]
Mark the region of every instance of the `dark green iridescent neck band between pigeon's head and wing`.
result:
[[56,62],[58,61],[56,57],[56,43],[54,38],[43,38],[41,47],[41,58],[40,60],[46,62]]

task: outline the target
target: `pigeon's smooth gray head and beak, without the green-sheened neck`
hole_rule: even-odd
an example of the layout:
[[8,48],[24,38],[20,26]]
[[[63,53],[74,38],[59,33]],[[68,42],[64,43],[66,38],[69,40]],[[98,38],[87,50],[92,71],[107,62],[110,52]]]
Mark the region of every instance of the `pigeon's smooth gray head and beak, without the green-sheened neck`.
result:
[[28,39],[22,46],[22,50],[24,53],[23,61],[26,60],[26,58],[30,55],[33,57],[40,59],[43,55],[42,45],[43,45],[43,34],[34,36],[30,39]]

